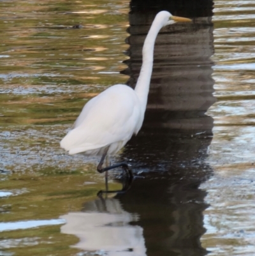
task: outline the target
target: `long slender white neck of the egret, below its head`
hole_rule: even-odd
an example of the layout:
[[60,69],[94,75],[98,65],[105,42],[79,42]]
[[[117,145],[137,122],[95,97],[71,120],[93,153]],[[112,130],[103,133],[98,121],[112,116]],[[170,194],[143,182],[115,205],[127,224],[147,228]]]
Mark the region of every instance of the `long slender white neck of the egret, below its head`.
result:
[[157,34],[159,33],[161,27],[162,25],[157,22],[157,20],[154,20],[143,44],[143,63],[135,87],[135,92],[142,104],[143,112],[145,112],[147,105],[147,97],[150,87],[150,77],[152,75],[154,45]]

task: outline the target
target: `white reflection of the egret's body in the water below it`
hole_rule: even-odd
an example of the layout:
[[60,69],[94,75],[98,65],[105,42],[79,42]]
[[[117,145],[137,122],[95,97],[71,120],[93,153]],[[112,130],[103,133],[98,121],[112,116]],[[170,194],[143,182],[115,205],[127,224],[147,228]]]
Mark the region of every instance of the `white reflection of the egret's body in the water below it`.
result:
[[80,239],[73,247],[100,251],[109,256],[146,255],[142,227],[129,225],[129,222],[137,221],[138,216],[124,211],[119,200],[96,200],[90,202],[89,207],[87,212],[68,213],[60,217],[66,220],[61,232]]

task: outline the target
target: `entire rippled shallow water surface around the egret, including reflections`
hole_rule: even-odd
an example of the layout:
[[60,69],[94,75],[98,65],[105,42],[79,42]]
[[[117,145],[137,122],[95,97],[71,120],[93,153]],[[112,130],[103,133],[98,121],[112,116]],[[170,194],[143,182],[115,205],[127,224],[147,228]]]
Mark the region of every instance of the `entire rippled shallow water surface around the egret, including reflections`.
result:
[[[0,255],[254,255],[253,1],[0,6]],[[135,86],[165,8],[194,23],[157,37],[143,128],[112,159],[136,178],[98,197],[98,159],[59,141],[90,98]]]

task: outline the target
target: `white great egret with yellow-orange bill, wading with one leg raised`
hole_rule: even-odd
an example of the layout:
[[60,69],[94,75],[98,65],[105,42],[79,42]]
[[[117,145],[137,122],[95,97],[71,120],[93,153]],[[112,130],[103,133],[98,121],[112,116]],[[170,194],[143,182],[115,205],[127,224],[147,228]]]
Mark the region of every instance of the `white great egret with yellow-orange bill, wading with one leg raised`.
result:
[[191,22],[168,11],[157,13],[143,45],[143,63],[135,89],[124,84],[109,87],[87,102],[75,121],[73,130],[61,140],[69,154],[99,155],[98,172],[122,166],[132,176],[126,163],[103,168],[106,156],[116,154],[142,126],[153,66],[154,44],[159,30],[175,22]]

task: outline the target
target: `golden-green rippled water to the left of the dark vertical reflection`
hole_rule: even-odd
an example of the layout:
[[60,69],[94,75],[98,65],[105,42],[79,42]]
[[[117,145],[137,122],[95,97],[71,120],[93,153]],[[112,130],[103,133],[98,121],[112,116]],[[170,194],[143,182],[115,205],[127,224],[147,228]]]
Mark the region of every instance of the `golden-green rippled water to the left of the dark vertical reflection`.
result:
[[[95,172],[97,160],[70,158],[59,149],[59,141],[87,100],[116,80],[127,80],[119,71],[128,47],[128,3],[107,4],[0,3],[0,190],[6,195],[0,198],[0,225],[80,211],[105,186]],[[77,24],[82,28],[73,29]],[[1,255],[80,251],[70,247],[78,238],[60,234],[59,225],[6,230],[1,236]]]

